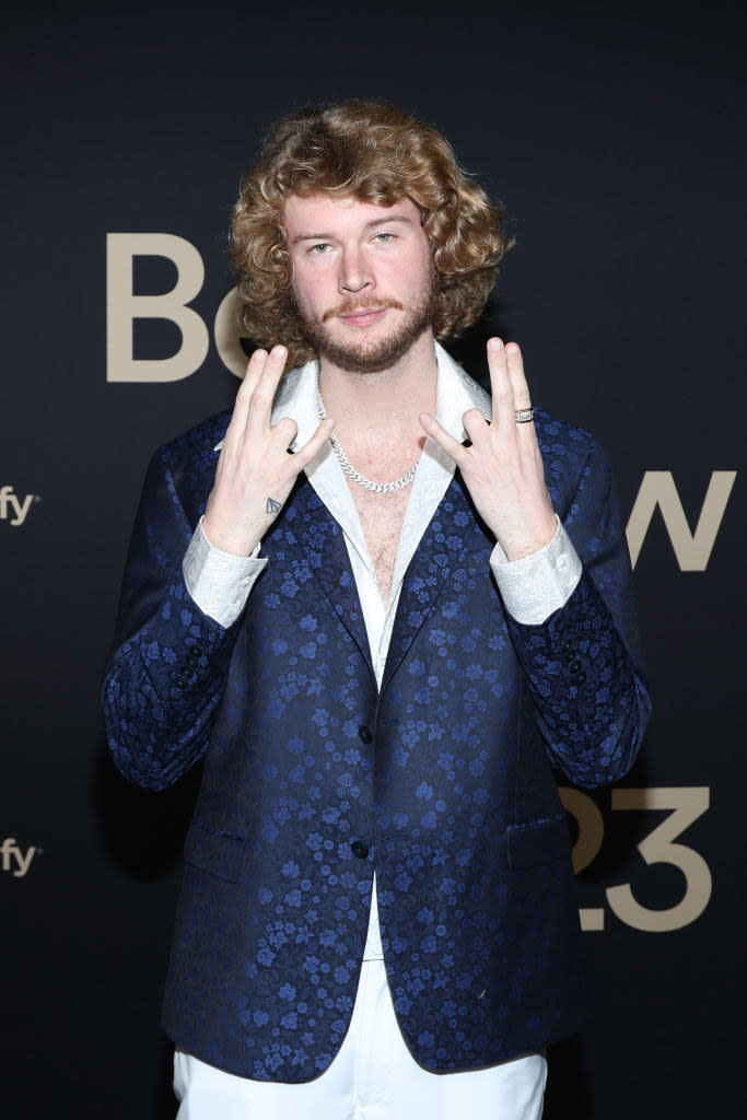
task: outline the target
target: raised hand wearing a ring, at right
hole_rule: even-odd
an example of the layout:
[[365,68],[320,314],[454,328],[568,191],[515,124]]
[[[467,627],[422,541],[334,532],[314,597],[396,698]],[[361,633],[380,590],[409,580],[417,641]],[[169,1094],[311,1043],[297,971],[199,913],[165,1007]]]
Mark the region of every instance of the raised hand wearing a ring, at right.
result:
[[532,421],[519,423],[516,413],[531,409],[522,355],[516,343],[499,338],[487,344],[493,391],[493,421],[478,409],[463,417],[471,447],[450,436],[430,412],[420,416],[428,435],[450,455],[483,521],[508,560],[520,560],[549,544],[555,515],[544,485],[542,455]]

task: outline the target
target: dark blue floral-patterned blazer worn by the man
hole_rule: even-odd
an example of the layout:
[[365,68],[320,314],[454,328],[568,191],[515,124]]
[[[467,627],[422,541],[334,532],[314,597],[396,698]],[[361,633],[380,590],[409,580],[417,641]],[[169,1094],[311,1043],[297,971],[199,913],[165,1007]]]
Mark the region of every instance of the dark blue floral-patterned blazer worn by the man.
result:
[[606,459],[536,410],[553,506],[583,562],[538,626],[504,610],[494,541],[457,473],[412,559],[381,691],[342,531],[301,475],[227,629],[181,560],[228,416],[146,478],[103,687],[112,755],[153,790],[203,760],[164,1026],[246,1077],[333,1061],[374,867],[402,1035],[427,1070],[541,1048],[583,1016],[569,833],[553,768],[619,778],[648,718]]

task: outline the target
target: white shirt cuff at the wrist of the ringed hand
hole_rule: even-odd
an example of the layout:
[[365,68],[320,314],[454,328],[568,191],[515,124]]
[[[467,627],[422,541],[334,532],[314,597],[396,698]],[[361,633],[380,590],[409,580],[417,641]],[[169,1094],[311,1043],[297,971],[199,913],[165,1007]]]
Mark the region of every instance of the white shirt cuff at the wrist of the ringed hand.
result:
[[539,626],[570,599],[581,578],[581,561],[555,514],[558,528],[549,544],[530,557],[508,560],[499,544],[491,554],[503,604],[526,626]]

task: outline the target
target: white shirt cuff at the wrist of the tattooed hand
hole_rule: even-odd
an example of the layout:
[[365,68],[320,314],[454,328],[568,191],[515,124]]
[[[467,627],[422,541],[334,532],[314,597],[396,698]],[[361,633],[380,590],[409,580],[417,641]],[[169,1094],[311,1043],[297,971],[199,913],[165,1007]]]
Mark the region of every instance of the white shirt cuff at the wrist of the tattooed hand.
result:
[[246,606],[254,580],[268,562],[267,558],[259,559],[260,544],[251,557],[221,552],[208,541],[203,519],[199,519],[181,570],[192,598],[204,615],[209,615],[221,626],[228,627],[236,620]]

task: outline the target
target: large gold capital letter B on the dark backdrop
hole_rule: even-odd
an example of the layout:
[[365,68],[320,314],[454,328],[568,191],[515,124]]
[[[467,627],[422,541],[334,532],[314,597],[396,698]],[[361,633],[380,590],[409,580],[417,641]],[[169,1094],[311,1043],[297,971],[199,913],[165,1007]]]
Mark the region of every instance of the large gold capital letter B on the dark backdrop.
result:
[[[136,256],[166,256],[177,269],[177,282],[160,296],[136,296],[132,262]],[[205,279],[203,259],[195,246],[171,233],[110,233],[106,235],[106,380],[179,381],[205,361],[207,327],[186,305],[198,295]],[[170,319],[181,333],[181,345],[170,357],[150,361],[132,353],[134,319]]]

